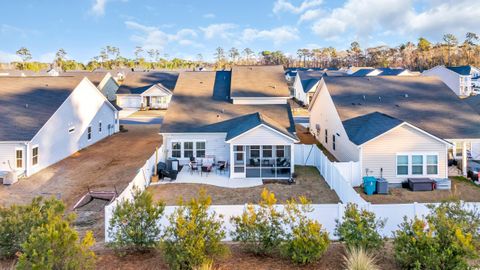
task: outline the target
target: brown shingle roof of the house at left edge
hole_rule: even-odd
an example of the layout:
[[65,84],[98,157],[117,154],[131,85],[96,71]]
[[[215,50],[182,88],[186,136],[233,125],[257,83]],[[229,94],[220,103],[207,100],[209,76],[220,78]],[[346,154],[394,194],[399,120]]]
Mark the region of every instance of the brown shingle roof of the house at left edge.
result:
[[83,77],[0,77],[0,141],[29,141]]

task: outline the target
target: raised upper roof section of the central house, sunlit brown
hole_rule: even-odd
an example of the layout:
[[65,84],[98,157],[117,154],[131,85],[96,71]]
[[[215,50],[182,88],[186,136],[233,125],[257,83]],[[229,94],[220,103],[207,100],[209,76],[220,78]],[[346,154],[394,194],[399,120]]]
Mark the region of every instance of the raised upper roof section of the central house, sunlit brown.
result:
[[232,67],[232,98],[289,96],[283,66]]

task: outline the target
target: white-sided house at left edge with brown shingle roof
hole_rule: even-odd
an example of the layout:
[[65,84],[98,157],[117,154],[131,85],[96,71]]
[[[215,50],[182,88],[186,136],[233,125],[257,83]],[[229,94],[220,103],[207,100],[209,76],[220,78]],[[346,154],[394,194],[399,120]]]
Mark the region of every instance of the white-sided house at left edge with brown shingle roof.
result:
[[118,111],[87,78],[0,78],[0,175],[30,176],[118,127]]

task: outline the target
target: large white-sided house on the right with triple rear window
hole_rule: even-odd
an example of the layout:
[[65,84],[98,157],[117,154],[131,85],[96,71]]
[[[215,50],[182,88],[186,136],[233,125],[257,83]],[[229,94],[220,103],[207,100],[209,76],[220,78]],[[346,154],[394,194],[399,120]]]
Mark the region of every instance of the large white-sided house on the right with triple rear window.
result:
[[480,139],[480,117],[434,77],[324,77],[309,111],[327,151],[392,184],[447,178],[448,151],[466,174],[466,145]]

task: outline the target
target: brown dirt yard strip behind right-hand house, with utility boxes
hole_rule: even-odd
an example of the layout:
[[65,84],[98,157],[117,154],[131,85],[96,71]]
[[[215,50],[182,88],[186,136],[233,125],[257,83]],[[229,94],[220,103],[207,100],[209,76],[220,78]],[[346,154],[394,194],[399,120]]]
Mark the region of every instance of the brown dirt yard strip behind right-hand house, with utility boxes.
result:
[[454,177],[451,178],[451,180],[451,190],[413,192],[404,188],[391,188],[390,194],[388,195],[375,194],[367,196],[361,188],[356,189],[362,198],[374,204],[434,203],[454,199],[466,202],[480,202],[480,186],[475,185],[469,180],[463,180],[462,177]]

